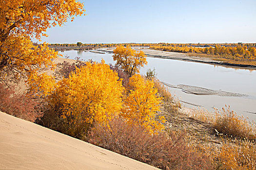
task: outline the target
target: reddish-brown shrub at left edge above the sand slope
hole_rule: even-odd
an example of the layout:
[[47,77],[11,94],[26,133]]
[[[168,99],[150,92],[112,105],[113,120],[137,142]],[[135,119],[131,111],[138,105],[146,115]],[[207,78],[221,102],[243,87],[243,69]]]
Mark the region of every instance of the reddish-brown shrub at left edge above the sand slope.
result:
[[38,102],[30,96],[15,93],[12,87],[0,84],[0,111],[34,122],[40,116],[37,107]]

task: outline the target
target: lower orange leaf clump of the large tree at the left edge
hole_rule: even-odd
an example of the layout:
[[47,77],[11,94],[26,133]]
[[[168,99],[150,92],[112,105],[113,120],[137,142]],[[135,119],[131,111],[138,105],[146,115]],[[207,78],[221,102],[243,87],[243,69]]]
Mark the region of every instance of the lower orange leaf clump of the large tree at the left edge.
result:
[[44,68],[54,68],[52,59],[58,57],[58,52],[50,49],[46,43],[33,45],[28,36],[9,35],[0,48],[0,74],[1,78],[14,76],[20,77],[38,73]]

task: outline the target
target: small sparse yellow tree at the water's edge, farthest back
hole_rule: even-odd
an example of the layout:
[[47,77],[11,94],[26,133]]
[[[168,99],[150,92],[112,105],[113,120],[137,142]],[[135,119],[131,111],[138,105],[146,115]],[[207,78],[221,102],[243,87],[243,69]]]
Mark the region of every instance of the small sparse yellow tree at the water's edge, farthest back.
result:
[[139,68],[147,65],[146,55],[143,51],[135,51],[130,46],[118,46],[114,50],[113,60],[124,70],[129,77],[139,72]]

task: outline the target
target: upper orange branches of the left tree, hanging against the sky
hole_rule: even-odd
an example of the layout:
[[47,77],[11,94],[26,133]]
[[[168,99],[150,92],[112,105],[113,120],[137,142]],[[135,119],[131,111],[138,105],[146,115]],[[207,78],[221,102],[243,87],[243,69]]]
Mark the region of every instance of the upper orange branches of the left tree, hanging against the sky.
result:
[[4,0],[0,2],[0,11],[0,30],[4,34],[40,39],[51,25],[62,25],[68,17],[80,16],[85,10],[76,0]]

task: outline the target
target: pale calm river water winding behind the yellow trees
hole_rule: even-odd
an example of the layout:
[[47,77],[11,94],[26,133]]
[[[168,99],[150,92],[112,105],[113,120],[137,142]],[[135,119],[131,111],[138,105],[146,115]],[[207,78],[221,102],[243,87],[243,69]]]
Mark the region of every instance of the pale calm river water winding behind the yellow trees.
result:
[[[80,57],[83,60],[93,59],[115,64],[112,53],[94,53],[89,51],[59,52],[70,59]],[[148,65],[140,69],[145,74],[148,68],[155,68],[157,78],[171,85],[168,88],[182,105],[191,108],[202,106],[210,111],[214,107],[221,109],[230,105],[237,114],[256,121],[256,70],[226,68],[209,64],[147,57]],[[177,85],[188,85],[190,88],[202,87],[211,91],[225,91],[238,95],[196,95],[184,89],[173,88]]]

